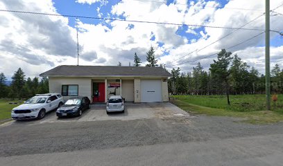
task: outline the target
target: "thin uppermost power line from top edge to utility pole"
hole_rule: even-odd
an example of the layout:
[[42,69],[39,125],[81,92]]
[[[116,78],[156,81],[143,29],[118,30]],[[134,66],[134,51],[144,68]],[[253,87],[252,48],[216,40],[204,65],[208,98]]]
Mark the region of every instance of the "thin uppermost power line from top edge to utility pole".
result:
[[[142,1],[142,2],[152,2],[152,3],[167,3],[167,1],[151,1],[151,0],[132,0],[132,1]],[[182,6],[189,6],[189,4],[186,3],[172,3],[175,5],[182,5]],[[198,5],[195,4],[194,6],[189,7],[203,7],[203,8],[221,8],[221,6],[205,6],[205,5]],[[257,12],[263,12],[264,10],[260,9],[249,9],[249,8],[221,8],[221,9],[229,9],[229,10],[250,10],[250,11],[257,11]]]

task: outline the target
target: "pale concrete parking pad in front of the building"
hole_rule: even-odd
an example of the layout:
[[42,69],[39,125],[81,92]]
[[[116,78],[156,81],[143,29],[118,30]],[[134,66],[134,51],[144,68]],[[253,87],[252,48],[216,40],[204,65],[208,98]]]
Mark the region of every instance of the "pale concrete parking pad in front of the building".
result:
[[[89,122],[97,120],[138,120],[151,118],[166,118],[174,115],[188,115],[187,112],[182,111],[175,105],[167,102],[157,103],[126,103],[125,113],[109,113],[105,111],[105,104],[92,104],[91,109],[83,112],[80,117],[73,118],[58,118],[55,111],[46,114],[42,120],[28,120],[28,121],[12,121],[12,124],[44,124],[54,122]],[[10,124],[9,123],[9,124]]]

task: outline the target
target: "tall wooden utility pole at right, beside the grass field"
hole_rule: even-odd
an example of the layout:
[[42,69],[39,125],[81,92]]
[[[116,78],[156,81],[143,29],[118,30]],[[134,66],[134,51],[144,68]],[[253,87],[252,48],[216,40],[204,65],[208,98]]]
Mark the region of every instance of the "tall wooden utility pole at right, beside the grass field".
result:
[[271,110],[270,0],[266,0],[266,109]]

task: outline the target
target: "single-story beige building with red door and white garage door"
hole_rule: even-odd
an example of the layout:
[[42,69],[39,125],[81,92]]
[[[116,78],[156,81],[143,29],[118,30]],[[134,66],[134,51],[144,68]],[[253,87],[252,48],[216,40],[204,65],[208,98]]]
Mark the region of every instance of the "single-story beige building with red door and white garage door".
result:
[[92,102],[106,102],[110,95],[137,103],[169,100],[171,74],[161,67],[62,65],[40,76],[49,77],[49,93],[62,93],[65,100],[78,95]]

